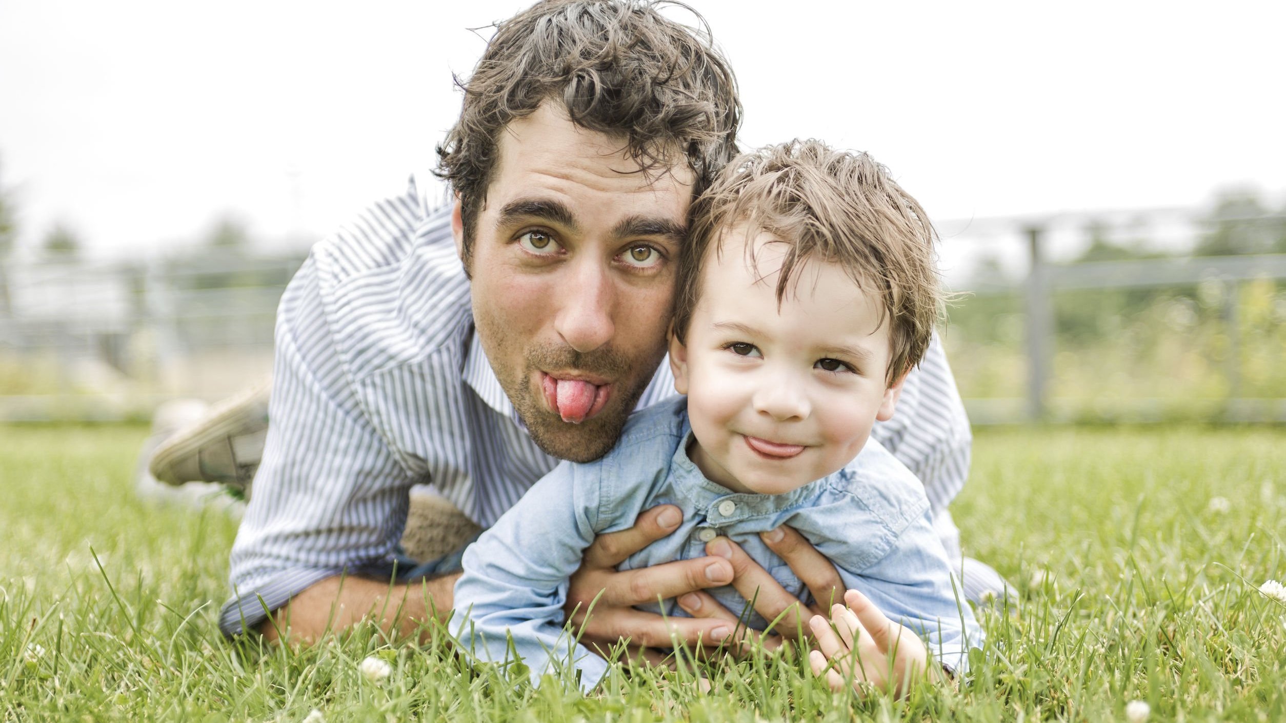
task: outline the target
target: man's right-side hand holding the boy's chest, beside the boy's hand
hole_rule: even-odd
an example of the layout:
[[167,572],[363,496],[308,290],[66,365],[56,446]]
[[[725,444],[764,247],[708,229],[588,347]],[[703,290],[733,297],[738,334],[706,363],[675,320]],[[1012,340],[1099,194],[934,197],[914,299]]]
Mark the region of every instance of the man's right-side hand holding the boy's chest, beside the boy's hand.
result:
[[[786,590],[772,575],[757,562],[746,554],[746,551],[728,538],[715,538],[706,544],[706,553],[723,557],[732,563],[734,570],[733,587],[747,601],[754,601],[755,612],[769,623],[777,624],[763,639],[764,647],[773,650],[782,643],[782,639],[799,639],[808,634],[808,627],[802,621],[809,615],[817,615],[824,610],[826,603],[838,599],[840,590],[844,589],[840,572],[820,552],[813,548],[804,535],[791,527],[781,526],[759,535],[769,549],[775,552],[795,576],[808,587],[813,596],[814,605],[805,606]],[[818,605],[817,601],[820,601]],[[714,597],[702,592],[693,592],[679,598],[679,607],[693,618],[724,620],[732,625],[737,624],[737,615],[725,610]]]

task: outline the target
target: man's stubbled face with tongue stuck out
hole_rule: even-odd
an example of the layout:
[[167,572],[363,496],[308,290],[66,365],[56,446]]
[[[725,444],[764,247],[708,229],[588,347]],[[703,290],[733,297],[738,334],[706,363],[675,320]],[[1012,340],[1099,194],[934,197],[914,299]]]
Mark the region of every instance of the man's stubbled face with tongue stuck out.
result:
[[[541,449],[588,462],[616,444],[665,355],[692,174],[642,172],[624,143],[557,104],[500,136],[473,229],[473,320]],[[457,247],[463,228],[457,203]]]

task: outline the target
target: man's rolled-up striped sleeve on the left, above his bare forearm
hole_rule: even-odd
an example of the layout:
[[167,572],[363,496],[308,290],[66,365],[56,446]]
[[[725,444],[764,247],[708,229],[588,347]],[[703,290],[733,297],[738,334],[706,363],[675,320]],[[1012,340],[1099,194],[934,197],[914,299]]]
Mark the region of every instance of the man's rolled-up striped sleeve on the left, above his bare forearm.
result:
[[237,636],[334,575],[385,575],[419,480],[363,413],[336,350],[315,257],[282,297],[271,425],[231,551],[233,597],[219,628]]

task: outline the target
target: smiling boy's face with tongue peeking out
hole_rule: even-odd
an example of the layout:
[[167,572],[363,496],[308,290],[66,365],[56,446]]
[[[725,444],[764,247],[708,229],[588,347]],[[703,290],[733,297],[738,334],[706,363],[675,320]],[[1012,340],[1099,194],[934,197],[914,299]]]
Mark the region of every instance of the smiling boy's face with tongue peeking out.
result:
[[890,334],[877,297],[838,265],[796,266],[778,307],[786,244],[774,242],[737,226],[720,252],[711,244],[688,342],[670,341],[692,461],[739,493],[787,493],[847,464],[874,421],[892,417],[903,381],[885,381]]

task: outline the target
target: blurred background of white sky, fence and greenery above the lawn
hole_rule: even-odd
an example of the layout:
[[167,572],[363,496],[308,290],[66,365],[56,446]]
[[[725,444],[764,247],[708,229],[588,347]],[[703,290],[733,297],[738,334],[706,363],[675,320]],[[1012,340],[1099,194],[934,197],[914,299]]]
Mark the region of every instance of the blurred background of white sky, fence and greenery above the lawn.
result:
[[[0,421],[266,377],[309,247],[430,178],[526,4],[0,3]],[[743,145],[868,151],[934,216],[976,423],[1286,421],[1286,4],[692,4]]]

